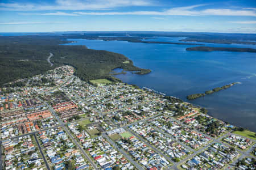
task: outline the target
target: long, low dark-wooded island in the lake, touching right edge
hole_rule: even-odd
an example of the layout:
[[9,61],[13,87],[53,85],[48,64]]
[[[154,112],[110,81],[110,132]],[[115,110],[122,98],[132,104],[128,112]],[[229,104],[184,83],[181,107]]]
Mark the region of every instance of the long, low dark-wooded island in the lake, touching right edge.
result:
[[226,47],[212,47],[212,46],[195,46],[186,48],[187,51],[202,51],[202,52],[213,52],[213,51],[225,51],[225,52],[249,52],[256,53],[256,49],[253,48],[226,48]]

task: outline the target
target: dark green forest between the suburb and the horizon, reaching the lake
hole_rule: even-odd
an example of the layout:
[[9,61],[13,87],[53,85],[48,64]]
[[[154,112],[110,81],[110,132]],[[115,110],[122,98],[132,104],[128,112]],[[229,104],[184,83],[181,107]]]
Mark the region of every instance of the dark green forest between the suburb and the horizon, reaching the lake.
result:
[[[133,61],[122,54],[88,49],[86,46],[58,45],[66,42],[59,36],[0,37],[0,86],[42,74],[60,65],[75,67],[75,75],[86,81],[101,78],[113,80],[110,71],[115,68],[135,71],[135,74],[150,73],[149,69],[134,66]],[[53,54],[52,67],[47,62],[50,52]]]

